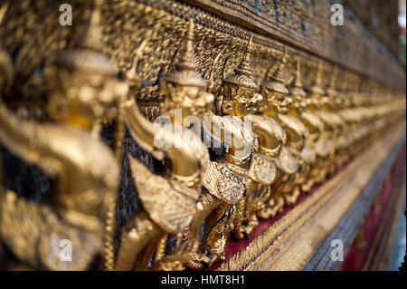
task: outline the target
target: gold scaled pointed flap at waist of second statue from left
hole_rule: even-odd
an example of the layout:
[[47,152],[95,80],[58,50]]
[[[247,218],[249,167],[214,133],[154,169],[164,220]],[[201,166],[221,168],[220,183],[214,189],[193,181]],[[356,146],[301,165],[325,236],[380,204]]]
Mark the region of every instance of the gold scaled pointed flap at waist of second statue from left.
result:
[[151,173],[128,155],[138,197],[149,216],[167,232],[179,232],[191,223],[199,192]]

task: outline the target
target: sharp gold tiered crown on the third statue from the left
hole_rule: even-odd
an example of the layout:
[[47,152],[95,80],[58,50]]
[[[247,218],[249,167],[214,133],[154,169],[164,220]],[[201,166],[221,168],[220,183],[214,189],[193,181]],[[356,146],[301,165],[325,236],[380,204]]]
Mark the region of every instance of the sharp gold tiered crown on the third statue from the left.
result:
[[241,63],[239,63],[239,66],[234,69],[233,73],[224,80],[224,83],[226,85],[235,85],[256,92],[259,87],[251,78],[252,70],[250,62],[252,38],[253,36],[251,36],[246,45],[243,57],[241,58]]

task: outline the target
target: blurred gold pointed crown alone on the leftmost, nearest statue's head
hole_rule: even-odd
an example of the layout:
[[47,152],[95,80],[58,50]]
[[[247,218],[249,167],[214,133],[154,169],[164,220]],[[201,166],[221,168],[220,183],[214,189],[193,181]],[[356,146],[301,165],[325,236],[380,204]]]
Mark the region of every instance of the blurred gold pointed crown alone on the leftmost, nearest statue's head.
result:
[[103,53],[102,30],[100,27],[101,0],[95,1],[90,16],[90,24],[84,29],[71,50],[64,50],[55,58],[55,64],[74,71],[93,72],[102,75],[115,75],[115,66]]

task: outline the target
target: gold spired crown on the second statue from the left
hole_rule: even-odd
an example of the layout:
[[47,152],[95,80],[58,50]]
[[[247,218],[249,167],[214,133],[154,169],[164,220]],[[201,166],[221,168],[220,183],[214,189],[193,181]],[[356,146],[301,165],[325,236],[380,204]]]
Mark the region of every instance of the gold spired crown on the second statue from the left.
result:
[[194,21],[191,19],[188,26],[188,35],[186,38],[185,52],[175,63],[175,70],[166,73],[163,81],[178,86],[193,86],[205,89],[208,85],[202,77],[196,73],[196,65],[193,55],[194,42]]

